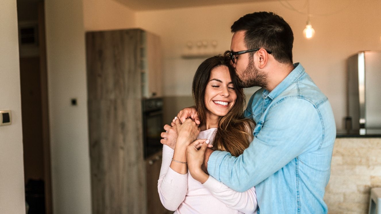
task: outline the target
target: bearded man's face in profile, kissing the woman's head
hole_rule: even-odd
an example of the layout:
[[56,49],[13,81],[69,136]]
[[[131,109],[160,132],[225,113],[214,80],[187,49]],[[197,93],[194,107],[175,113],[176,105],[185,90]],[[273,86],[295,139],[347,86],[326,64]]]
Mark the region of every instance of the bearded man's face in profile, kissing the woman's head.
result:
[[[233,34],[230,49],[232,52],[245,51],[248,49],[245,44],[245,31],[237,31]],[[267,75],[264,71],[260,71],[256,68],[254,62],[255,56],[251,53],[253,52],[235,55],[235,63],[233,66],[235,73],[237,73],[239,77],[240,87],[266,87]]]

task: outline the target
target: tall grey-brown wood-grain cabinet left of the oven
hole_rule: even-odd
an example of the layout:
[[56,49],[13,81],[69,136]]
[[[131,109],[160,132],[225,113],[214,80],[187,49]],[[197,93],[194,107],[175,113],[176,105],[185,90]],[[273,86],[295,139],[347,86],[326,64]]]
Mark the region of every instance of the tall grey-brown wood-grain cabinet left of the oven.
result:
[[86,33],[94,214],[147,213],[141,100],[161,94],[145,79],[155,45],[158,38],[140,29]]

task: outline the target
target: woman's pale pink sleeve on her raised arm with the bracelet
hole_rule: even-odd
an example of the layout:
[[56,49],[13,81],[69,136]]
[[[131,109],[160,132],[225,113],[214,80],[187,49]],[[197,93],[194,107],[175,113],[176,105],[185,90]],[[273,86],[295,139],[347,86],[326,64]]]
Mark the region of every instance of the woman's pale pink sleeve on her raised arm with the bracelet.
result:
[[173,149],[163,145],[163,161],[160,176],[157,182],[160,201],[163,206],[175,211],[185,199],[188,190],[188,173],[180,174],[170,168]]

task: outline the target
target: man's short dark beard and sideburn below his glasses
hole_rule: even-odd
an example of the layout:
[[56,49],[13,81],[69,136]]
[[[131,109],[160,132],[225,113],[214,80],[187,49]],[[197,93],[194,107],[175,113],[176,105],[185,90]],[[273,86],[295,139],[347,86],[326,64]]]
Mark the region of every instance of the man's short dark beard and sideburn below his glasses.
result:
[[251,56],[249,59],[249,64],[245,71],[242,72],[241,76],[238,76],[238,84],[242,88],[250,88],[253,86],[259,86],[266,88],[267,86],[267,74],[263,71],[258,70],[254,65],[254,59]]

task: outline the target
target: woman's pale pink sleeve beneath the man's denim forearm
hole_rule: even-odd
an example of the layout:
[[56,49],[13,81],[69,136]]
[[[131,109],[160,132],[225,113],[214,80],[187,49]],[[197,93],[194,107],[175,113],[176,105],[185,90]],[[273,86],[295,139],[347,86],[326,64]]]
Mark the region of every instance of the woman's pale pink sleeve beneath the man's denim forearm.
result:
[[212,176],[209,176],[208,180],[203,183],[203,186],[229,208],[236,209],[245,214],[253,214],[257,210],[258,203],[255,187],[251,187],[245,192],[236,192]]

